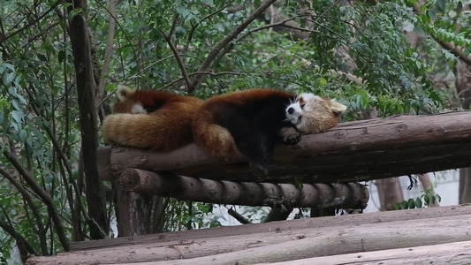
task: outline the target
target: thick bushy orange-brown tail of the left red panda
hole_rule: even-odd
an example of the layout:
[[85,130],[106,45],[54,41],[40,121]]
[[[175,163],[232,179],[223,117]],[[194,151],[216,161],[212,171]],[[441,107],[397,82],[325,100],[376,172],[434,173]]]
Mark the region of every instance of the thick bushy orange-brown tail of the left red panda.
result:
[[190,143],[193,140],[191,131],[191,120],[174,111],[159,115],[111,114],[103,122],[105,142],[159,151]]

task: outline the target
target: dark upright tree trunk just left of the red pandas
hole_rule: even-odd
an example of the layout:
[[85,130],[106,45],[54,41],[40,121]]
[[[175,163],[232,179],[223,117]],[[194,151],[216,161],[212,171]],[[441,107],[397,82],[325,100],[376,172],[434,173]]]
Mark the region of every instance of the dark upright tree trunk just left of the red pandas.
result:
[[[96,83],[93,72],[93,59],[90,51],[90,43],[87,30],[87,1],[67,1],[69,13],[80,10],[70,22],[69,36],[72,44],[75,74],[77,80],[78,102],[80,109],[80,133],[83,150],[85,183],[87,186],[88,220],[90,236],[92,239],[103,239],[103,231],[109,233],[109,225],[106,217],[106,207],[103,193],[103,183],[98,176],[96,165],[98,148],[98,126],[95,108]],[[98,223],[95,227],[93,223]],[[100,231],[102,229],[103,231]]]

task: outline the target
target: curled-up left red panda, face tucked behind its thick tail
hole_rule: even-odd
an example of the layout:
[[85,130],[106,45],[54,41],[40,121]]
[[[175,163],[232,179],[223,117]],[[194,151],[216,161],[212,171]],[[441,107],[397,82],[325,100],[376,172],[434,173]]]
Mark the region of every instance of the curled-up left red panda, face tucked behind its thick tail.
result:
[[194,112],[202,101],[157,90],[118,87],[113,114],[103,121],[105,142],[170,151],[191,143]]

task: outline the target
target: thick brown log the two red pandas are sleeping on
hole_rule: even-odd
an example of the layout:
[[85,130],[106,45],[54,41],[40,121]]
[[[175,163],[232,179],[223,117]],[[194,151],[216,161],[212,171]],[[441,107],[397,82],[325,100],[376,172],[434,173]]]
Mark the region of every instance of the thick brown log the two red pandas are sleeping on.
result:
[[343,123],[326,133],[303,135],[294,146],[277,145],[268,177],[257,175],[241,158],[210,156],[194,144],[169,153],[115,147],[110,161],[114,172],[138,168],[217,180],[335,183],[467,167],[470,135],[467,110]]

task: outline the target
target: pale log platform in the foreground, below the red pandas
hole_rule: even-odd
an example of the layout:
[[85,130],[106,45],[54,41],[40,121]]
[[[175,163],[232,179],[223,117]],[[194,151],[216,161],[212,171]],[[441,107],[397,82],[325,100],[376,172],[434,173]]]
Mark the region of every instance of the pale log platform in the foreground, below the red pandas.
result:
[[469,264],[470,220],[451,206],[245,224],[76,242],[27,264]]

